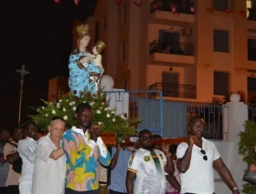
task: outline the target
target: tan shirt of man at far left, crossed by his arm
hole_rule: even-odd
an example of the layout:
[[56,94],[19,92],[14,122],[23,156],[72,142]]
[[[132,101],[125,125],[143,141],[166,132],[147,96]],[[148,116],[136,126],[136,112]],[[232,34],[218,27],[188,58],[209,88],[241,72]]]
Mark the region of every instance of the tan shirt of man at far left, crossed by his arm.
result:
[[[10,139],[9,141],[17,145],[17,143],[13,139]],[[4,147],[5,159],[6,159],[6,156],[10,154],[15,154],[16,152],[17,152],[17,148],[14,145],[5,143],[5,147]],[[6,186],[18,185],[19,178],[20,178],[20,174],[16,173],[15,170],[13,170],[13,165],[9,164],[9,172],[6,180]]]

